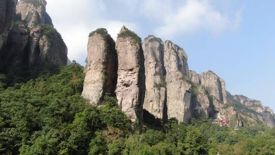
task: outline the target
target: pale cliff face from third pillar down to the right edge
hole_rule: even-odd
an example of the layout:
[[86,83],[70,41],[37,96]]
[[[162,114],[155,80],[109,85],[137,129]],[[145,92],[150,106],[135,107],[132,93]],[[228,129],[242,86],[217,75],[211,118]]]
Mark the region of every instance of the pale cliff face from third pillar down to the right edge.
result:
[[[185,51],[171,41],[162,42],[154,36],[145,38],[146,93],[144,110],[155,118],[227,119],[232,127],[262,122],[274,127],[274,114],[260,101],[232,96],[225,81],[212,71],[201,74],[188,70]],[[241,111],[236,103],[242,105]],[[243,112],[244,109],[248,109]],[[146,118],[145,118],[146,119]]]

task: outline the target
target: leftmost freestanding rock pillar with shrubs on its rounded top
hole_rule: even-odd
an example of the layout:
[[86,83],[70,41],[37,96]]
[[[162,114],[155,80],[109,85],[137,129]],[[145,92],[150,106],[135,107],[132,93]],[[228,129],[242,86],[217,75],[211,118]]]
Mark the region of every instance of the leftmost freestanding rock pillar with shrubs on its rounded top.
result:
[[117,84],[117,53],[115,41],[106,29],[90,34],[87,66],[82,96],[100,106],[105,93],[114,94]]

